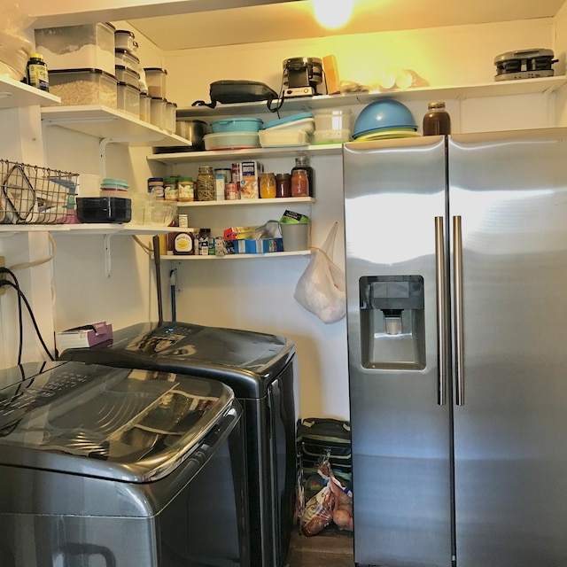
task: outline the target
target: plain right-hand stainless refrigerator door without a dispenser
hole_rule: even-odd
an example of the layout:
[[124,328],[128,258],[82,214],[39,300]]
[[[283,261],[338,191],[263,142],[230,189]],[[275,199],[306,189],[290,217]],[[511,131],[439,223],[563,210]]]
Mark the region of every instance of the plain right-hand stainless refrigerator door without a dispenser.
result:
[[567,131],[453,136],[449,156],[462,220],[457,565],[563,566]]

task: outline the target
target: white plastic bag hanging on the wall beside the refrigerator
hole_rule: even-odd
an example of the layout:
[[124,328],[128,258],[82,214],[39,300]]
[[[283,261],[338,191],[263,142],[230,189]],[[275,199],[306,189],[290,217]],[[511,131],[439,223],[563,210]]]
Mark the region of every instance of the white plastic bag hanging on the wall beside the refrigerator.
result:
[[309,265],[299,278],[293,297],[324,323],[346,315],[345,272],[332,260],[338,222],[331,227],[321,248],[315,248]]

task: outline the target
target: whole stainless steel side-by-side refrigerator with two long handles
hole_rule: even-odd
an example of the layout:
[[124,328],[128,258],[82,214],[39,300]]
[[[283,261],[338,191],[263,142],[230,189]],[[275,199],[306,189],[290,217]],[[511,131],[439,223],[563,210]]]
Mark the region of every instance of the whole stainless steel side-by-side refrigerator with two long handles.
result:
[[344,146],[354,560],[567,565],[567,128]]

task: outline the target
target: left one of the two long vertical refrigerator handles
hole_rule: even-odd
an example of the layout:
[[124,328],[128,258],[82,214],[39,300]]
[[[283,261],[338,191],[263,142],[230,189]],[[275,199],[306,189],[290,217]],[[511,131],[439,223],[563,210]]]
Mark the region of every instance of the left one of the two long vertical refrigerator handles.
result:
[[443,217],[435,217],[435,283],[437,291],[437,403],[447,403],[447,286],[445,275],[445,236]]

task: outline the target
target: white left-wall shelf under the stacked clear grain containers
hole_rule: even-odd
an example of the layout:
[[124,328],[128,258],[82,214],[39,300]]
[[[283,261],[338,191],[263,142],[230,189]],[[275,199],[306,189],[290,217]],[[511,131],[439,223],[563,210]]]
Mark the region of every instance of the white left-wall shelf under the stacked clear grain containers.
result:
[[137,119],[134,115],[102,105],[42,108],[45,125],[60,126],[82,134],[113,139],[120,144],[181,146],[189,142]]

